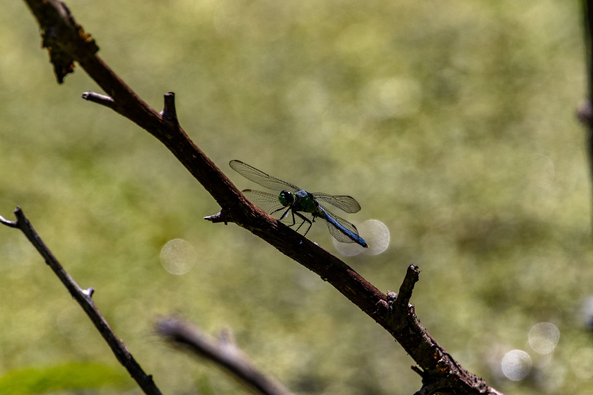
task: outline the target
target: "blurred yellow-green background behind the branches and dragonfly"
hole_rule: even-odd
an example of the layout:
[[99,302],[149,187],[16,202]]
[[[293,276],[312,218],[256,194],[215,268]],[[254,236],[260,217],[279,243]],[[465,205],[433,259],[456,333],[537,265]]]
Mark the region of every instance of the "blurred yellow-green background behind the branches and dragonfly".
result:
[[[240,189],[255,185],[231,159],[355,196],[362,211],[346,219],[384,222],[384,253],[343,259],[382,291],[397,291],[406,267],[419,265],[417,315],[464,367],[506,393],[590,393],[578,1],[68,6],[155,109],[162,94],[176,93],[181,125]],[[24,209],[66,270],[96,289],[98,307],[164,393],[248,393],[155,335],[155,318],[170,313],[211,333],[231,328],[299,394],[420,388],[406,352],[317,275],[236,225],[204,221],[219,207],[173,155],[82,100],[100,89],[81,68],[58,86],[24,2],[2,9],[0,213]],[[161,264],[175,238],[196,254],[184,275]],[[338,253],[324,225],[308,238]],[[111,369],[101,376],[107,387],[93,378],[94,388],[47,388],[139,393],[117,378],[126,372],[33,247],[6,227],[0,275],[0,384],[24,386],[14,381],[23,369],[84,371],[92,362]],[[546,355],[528,342],[540,322],[560,333]],[[514,349],[533,362],[519,381],[501,371]]]

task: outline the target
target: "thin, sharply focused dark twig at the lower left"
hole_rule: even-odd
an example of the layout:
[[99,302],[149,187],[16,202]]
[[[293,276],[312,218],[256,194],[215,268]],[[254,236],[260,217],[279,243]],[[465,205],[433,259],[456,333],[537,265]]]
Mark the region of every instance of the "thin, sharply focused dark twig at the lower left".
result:
[[103,339],[107,342],[111,351],[113,351],[114,355],[117,358],[117,361],[126,368],[129,372],[130,376],[136,383],[142,388],[145,394],[147,395],[161,395],[161,391],[157,388],[152,381],[152,376],[147,375],[138,362],[134,359],[132,354],[128,351],[126,345],[116,336],[113,332],[109,323],[105,320],[105,318],[101,315],[98,308],[95,306],[93,299],[94,289],[81,289],[80,286],[72,279],[72,277],[64,270],[62,265],[58,262],[55,256],[53,256],[52,251],[47,248],[46,244],[43,242],[39,234],[34,230],[33,225],[29,222],[27,216],[25,216],[24,212],[21,210],[20,207],[17,207],[14,211],[14,215],[17,217],[16,222],[7,221],[6,219],[1,218],[1,222],[4,225],[7,225],[11,228],[18,228],[23,232],[23,234],[27,237],[27,239],[33,244],[35,249],[41,254],[43,259],[45,259],[45,263],[49,267],[52,268],[53,272],[56,273],[56,276],[62,281],[63,285],[68,289],[72,298],[82,307],[82,310],[87,313],[87,316],[91,318],[95,328],[101,333]]

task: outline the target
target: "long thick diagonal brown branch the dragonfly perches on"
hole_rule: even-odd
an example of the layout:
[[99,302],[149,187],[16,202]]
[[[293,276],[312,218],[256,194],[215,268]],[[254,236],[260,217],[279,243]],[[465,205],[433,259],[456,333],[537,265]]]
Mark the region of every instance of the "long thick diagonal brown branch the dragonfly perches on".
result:
[[78,62],[109,95],[88,92],[83,97],[109,107],[155,136],[218,202],[221,212],[205,219],[225,224],[234,222],[326,279],[391,333],[412,356],[419,367],[415,370],[422,372],[424,393],[438,387],[449,388],[448,392],[456,394],[500,394],[482,378],[458,365],[420,324],[413,305],[409,304],[419,273],[415,265],[406,273],[400,288],[401,298],[393,292],[383,294],[346,263],[251,204],[179,126],[174,95],[165,95],[161,113],[152,109],[97,55],[97,44],[76,24],[61,1],[25,2],[39,21],[43,45],[49,49],[58,82],[73,71],[74,61]]

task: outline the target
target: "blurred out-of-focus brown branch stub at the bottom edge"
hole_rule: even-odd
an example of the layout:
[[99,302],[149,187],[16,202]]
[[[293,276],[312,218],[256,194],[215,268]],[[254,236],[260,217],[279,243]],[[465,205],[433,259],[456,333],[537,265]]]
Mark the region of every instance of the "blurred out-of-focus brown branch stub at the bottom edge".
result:
[[224,332],[219,339],[215,339],[202,329],[173,317],[163,318],[155,326],[157,332],[170,342],[209,359],[260,394],[292,395],[275,378],[257,369],[251,358],[238,349]]

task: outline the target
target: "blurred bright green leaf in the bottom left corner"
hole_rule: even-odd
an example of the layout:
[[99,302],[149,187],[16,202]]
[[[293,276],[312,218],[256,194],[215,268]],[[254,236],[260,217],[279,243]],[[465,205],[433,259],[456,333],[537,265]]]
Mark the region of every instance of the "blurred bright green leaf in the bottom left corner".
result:
[[119,369],[83,362],[71,362],[44,369],[10,371],[0,377],[0,394],[4,395],[44,394],[57,390],[101,387],[129,388],[130,383]]

